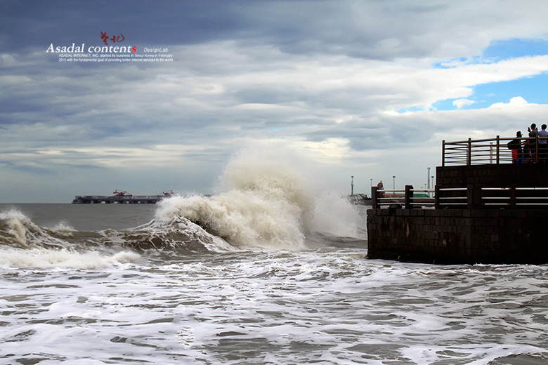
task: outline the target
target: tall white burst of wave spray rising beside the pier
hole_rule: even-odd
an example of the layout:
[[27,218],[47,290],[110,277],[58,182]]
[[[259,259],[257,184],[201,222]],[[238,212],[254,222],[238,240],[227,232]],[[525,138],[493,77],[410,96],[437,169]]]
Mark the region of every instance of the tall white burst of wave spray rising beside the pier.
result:
[[307,232],[355,234],[351,204],[322,190],[311,164],[278,147],[242,150],[226,166],[217,194],[164,200],[157,218],[182,215],[247,248],[298,250]]

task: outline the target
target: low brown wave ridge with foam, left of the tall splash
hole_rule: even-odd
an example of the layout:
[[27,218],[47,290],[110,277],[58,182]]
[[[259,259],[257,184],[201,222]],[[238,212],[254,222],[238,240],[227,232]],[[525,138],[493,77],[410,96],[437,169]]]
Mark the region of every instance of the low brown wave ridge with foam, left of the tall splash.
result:
[[79,232],[66,224],[36,225],[23,213],[0,213],[0,267],[98,268],[137,263],[141,255],[233,251],[190,220],[152,220],[131,230]]

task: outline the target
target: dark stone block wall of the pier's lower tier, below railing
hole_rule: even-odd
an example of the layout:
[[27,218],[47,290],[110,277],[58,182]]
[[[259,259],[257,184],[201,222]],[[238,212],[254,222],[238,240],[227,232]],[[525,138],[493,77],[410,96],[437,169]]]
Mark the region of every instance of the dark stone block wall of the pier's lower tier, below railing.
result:
[[544,264],[547,218],[545,209],[370,209],[367,255],[440,264]]

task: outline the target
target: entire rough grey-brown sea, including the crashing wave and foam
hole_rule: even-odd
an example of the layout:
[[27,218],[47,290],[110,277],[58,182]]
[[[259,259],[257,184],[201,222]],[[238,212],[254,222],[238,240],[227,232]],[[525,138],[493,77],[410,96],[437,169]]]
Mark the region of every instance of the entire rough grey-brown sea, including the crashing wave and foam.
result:
[[261,160],[211,196],[1,204],[0,364],[548,364],[548,265],[370,260],[367,206]]

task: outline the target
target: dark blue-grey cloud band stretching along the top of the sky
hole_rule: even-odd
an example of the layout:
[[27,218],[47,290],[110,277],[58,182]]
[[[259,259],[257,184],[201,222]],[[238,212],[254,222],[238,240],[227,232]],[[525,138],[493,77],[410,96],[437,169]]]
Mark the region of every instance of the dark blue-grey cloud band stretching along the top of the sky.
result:
[[[30,5],[32,4],[32,5]],[[284,53],[346,54],[387,59],[436,51],[443,39],[417,38],[443,27],[446,4],[400,1],[4,1],[4,50],[100,45],[100,32],[126,36],[126,44],[185,45],[235,39],[272,44]],[[429,15],[431,14],[431,15]],[[470,17],[473,18],[473,15]],[[470,19],[469,18],[469,19]],[[426,31],[426,29],[424,29]],[[429,29],[431,32],[432,29]],[[8,34],[8,36],[6,36]]]

